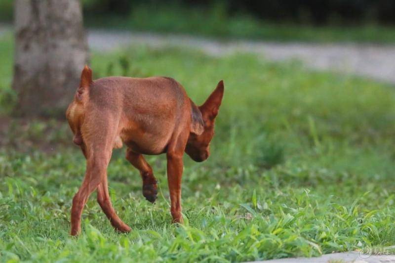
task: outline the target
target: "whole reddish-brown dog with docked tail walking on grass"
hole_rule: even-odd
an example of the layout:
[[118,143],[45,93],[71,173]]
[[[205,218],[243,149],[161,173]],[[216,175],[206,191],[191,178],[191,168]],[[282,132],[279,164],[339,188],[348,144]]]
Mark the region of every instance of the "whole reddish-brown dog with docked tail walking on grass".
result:
[[157,180],[142,154],[166,153],[170,211],[174,222],[183,222],[183,154],[185,151],[197,162],[208,158],[223,94],[220,81],[206,102],[197,107],[171,78],[108,77],[92,81],[92,71],[85,66],[66,113],[73,141],[86,158],[86,174],[73,198],[71,234],[79,234],[83,207],[95,189],[97,201],[115,229],[130,231],[111,204],[107,184],[113,148],[122,147],[122,143],[127,145],[126,159],[140,171],[143,195],[150,202],[157,198]]

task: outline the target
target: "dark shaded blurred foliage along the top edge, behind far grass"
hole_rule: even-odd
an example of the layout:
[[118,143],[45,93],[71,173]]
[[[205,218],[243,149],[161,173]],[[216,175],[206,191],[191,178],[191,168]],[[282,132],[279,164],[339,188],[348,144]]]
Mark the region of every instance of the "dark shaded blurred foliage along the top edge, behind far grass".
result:
[[209,10],[221,6],[223,13],[246,13],[255,19],[312,25],[394,24],[393,0],[83,0],[85,13],[127,15],[136,6],[183,6]]

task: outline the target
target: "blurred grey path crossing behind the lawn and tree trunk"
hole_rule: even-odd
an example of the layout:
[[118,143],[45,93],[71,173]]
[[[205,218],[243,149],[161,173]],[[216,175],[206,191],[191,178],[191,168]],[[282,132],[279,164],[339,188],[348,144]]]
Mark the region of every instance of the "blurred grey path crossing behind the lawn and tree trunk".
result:
[[[11,28],[0,24],[0,36]],[[299,59],[314,70],[333,70],[395,84],[395,45],[215,41],[191,36],[88,30],[89,46],[110,51],[130,44],[187,46],[211,55],[250,52],[273,61]]]

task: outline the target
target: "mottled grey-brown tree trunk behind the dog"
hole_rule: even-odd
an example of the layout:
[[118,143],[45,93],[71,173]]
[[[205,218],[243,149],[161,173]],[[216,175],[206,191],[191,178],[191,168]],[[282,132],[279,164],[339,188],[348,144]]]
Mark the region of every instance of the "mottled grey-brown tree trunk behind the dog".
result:
[[64,116],[87,62],[79,0],[15,0],[16,113]]

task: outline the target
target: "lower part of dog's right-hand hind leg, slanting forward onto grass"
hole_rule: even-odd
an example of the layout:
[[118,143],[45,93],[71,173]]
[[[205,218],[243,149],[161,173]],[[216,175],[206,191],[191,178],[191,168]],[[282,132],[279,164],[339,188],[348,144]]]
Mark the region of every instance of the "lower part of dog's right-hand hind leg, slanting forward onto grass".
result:
[[131,230],[127,224],[119,219],[113,205],[111,204],[110,195],[108,193],[107,176],[103,178],[102,182],[97,187],[97,202],[116,230],[122,233],[129,232]]

